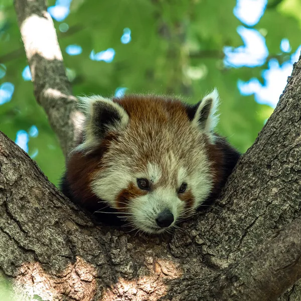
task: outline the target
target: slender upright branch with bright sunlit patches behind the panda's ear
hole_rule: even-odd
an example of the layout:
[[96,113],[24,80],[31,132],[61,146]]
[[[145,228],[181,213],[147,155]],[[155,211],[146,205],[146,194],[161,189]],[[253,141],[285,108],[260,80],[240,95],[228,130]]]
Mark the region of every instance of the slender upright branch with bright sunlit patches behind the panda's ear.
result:
[[45,109],[66,156],[77,137],[82,116],[71,93],[53,21],[45,0],[15,0],[14,5],[35,97]]

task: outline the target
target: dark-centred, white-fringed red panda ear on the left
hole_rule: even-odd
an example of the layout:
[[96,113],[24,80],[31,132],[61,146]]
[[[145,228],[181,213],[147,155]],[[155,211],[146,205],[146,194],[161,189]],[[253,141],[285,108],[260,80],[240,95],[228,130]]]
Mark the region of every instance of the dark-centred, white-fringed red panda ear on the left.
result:
[[93,149],[110,132],[118,132],[128,124],[128,114],[117,103],[99,95],[80,97],[79,107],[85,114],[84,141],[77,149]]

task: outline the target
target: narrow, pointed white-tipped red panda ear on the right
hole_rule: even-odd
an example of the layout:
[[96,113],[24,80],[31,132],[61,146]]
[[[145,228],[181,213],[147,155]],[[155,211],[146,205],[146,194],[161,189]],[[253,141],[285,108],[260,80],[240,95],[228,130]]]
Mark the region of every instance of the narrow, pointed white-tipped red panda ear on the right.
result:
[[188,111],[192,125],[210,136],[218,122],[218,116],[216,115],[218,101],[218,92],[217,89],[214,89]]

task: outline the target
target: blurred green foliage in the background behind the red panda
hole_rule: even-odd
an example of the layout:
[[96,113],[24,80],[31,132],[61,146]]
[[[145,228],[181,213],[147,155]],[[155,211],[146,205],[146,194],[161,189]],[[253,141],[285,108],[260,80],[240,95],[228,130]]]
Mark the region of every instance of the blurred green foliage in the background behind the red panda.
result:
[[[50,1],[49,6],[54,4]],[[218,131],[245,152],[272,108],[256,103],[253,96],[242,96],[237,88],[238,79],[260,79],[267,62],[255,68],[223,65],[223,47],[243,45],[236,31],[242,24],[233,15],[235,5],[234,0],[73,0],[69,16],[54,22],[73,93],[110,96],[116,88],[126,87],[130,93],[169,93],[195,103],[217,87],[222,99]],[[265,33],[270,56],[279,54],[283,38],[289,40],[291,52],[300,44],[300,9],[298,0],[268,2],[254,28]],[[61,23],[69,26],[65,33],[59,30]],[[128,44],[120,42],[124,28],[131,30]],[[65,49],[74,44],[82,53],[70,56]],[[90,59],[92,50],[108,48],[115,50],[111,63]],[[32,83],[22,77],[28,63],[10,0],[0,4],[0,64],[6,68],[0,86],[15,85],[12,100],[0,105],[0,130],[15,140],[18,130],[36,125],[39,134],[30,137],[28,153],[38,150],[34,159],[58,184],[64,158],[35,101]]]

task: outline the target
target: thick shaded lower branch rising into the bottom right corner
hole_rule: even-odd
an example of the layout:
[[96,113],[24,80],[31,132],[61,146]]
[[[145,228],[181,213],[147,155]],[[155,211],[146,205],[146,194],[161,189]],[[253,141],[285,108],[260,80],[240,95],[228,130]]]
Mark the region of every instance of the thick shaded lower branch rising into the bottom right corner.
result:
[[173,287],[186,288],[182,291],[178,288],[176,295],[173,291],[161,300],[194,300],[196,291],[204,284],[208,289],[197,300],[275,300],[301,277],[300,258],[301,219],[298,218],[218,276],[209,280],[200,276],[171,281]]

